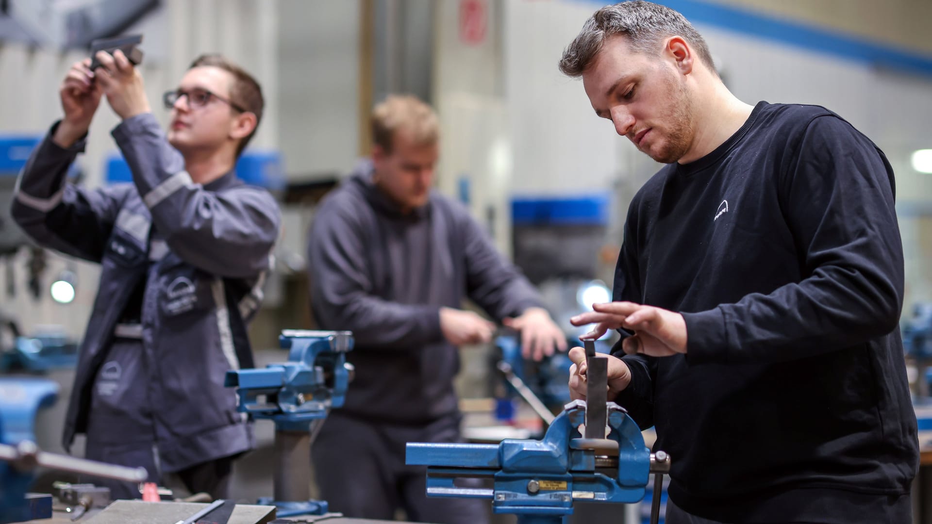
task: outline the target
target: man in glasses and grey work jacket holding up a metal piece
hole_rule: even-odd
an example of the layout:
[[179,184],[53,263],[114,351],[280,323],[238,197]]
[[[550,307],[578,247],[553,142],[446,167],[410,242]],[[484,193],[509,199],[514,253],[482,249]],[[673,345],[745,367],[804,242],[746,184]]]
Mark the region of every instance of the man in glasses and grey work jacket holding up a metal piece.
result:
[[[152,481],[177,474],[189,490],[223,498],[232,460],[254,447],[224,376],[252,366],[245,324],[280,222],[267,191],[233,172],[262,92],[238,66],[202,56],[165,95],[166,137],[139,71],[119,51],[97,59],[100,68],[77,62],[66,76],[64,117],[26,164],[12,206],[34,241],[102,267],[64,446],[87,434],[90,459],[144,466]],[[113,136],[133,183],[68,184],[102,96],[122,119]],[[117,498],[140,495],[99,482]]]

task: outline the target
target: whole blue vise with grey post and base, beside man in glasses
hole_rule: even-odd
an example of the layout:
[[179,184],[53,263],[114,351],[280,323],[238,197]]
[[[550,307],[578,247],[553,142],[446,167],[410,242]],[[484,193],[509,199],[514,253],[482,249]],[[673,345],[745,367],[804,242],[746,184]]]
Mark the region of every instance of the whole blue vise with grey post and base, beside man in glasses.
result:
[[310,446],[334,407],[343,406],[353,367],[349,331],[286,329],[279,338],[288,362],[226,372],[241,412],[275,422],[274,496],[279,517],[323,515],[325,501],[310,500]]

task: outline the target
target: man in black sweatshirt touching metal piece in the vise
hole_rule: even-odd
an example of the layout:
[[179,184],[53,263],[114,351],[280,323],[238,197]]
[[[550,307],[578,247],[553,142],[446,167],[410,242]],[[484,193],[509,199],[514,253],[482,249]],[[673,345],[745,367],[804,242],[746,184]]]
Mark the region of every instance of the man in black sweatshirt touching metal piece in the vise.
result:
[[[814,105],[742,103],[678,12],[603,7],[560,62],[669,165],[631,202],[610,398],[672,457],[667,524],[903,524],[918,465],[884,153]],[[585,398],[583,350],[570,389]]]

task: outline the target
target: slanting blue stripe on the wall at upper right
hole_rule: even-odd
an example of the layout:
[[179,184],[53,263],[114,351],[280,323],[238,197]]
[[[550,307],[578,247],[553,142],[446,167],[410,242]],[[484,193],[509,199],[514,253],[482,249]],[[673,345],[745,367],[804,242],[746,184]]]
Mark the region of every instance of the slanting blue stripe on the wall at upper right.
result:
[[[597,6],[611,3],[599,0],[575,1]],[[772,16],[738,7],[722,6],[700,0],[656,0],[656,2],[678,10],[693,23],[713,25],[857,62],[932,76],[932,56],[929,55],[873,43],[850,34],[801,21],[775,19]]]

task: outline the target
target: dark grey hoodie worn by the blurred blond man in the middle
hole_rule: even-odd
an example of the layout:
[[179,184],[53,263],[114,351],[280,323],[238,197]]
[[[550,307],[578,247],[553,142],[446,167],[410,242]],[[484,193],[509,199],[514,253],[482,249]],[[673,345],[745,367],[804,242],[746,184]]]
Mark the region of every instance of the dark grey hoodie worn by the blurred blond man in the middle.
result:
[[355,379],[338,411],[370,422],[458,413],[459,352],[444,338],[440,308],[469,297],[499,321],[542,306],[465,207],[432,190],[427,205],[402,214],[373,184],[369,161],[314,215],[308,269],[318,324],[355,338]]

